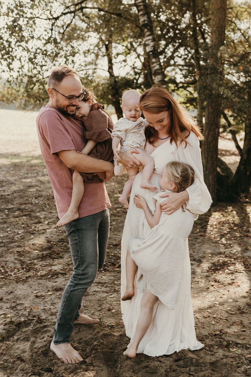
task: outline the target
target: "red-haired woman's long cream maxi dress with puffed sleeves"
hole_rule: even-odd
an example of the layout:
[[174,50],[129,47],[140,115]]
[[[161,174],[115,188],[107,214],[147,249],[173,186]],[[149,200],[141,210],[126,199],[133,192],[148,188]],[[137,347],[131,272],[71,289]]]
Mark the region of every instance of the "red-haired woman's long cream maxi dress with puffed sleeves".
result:
[[[151,156],[154,158],[155,168],[152,175],[151,184],[160,188],[159,178],[163,167],[167,162],[176,160],[190,164],[195,170],[195,183],[187,189],[189,201],[186,203],[187,209],[192,213],[201,214],[208,210],[211,205],[211,196],[203,181],[201,152],[199,141],[196,135],[191,132],[187,138],[187,147],[180,144],[178,148],[175,143],[170,143],[169,139],[161,146],[155,148]],[[126,253],[128,241],[132,238],[146,239],[151,230],[141,208],[137,208],[133,202],[135,195],[143,196],[148,207],[153,212],[154,202],[152,198],[155,193],[141,189],[140,183],[142,172],[139,172],[132,185],[130,204],[125,220],[125,227],[122,236],[121,251],[121,294],[126,290]],[[168,216],[168,215],[166,215]],[[139,266],[140,269],[140,266]],[[180,268],[177,266],[177,271]],[[137,353],[143,352],[149,356],[160,356],[172,354],[181,349],[200,349],[203,344],[196,340],[193,308],[191,300],[191,266],[189,259],[188,242],[185,246],[185,268],[181,282],[180,293],[176,300],[174,309],[170,309],[161,302],[156,302],[153,311],[151,325],[145,336],[141,340]],[[143,292],[135,290],[132,300],[122,301],[122,317],[125,324],[126,335],[134,337],[138,316],[140,314],[140,303]]]

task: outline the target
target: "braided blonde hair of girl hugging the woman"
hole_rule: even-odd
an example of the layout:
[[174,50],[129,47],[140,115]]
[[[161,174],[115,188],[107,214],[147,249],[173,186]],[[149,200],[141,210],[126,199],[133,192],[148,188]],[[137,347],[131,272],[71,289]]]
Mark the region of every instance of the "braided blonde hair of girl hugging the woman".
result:
[[184,162],[171,161],[166,165],[167,177],[175,183],[178,192],[184,191],[194,182],[194,170]]

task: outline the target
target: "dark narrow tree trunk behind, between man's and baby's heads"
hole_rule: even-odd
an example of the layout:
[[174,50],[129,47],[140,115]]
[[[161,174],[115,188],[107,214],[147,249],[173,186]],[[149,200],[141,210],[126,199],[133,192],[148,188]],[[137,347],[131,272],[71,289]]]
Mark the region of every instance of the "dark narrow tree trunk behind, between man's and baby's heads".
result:
[[117,80],[113,72],[112,42],[110,40],[105,43],[105,50],[106,50],[106,56],[108,60],[108,72],[110,75],[110,83],[111,83],[111,99],[113,101],[113,106],[115,108],[117,117],[119,119],[119,118],[122,118],[123,112],[120,107],[120,96],[119,96]]

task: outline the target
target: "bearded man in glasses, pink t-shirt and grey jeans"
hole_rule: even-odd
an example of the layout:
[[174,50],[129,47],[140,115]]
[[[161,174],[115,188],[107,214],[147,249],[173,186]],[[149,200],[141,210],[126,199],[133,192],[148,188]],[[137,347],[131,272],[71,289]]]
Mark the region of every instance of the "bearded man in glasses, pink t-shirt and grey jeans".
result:
[[[72,193],[72,172],[105,172],[113,176],[113,164],[78,153],[87,140],[80,121],[72,116],[84,97],[79,75],[67,66],[53,69],[48,81],[49,103],[37,117],[38,138],[52,183],[59,218],[66,213]],[[79,218],[64,226],[70,243],[73,274],[65,287],[50,349],[64,363],[82,361],[70,345],[74,323],[98,323],[79,314],[82,297],[105,261],[109,236],[110,201],[104,183],[85,182]]]

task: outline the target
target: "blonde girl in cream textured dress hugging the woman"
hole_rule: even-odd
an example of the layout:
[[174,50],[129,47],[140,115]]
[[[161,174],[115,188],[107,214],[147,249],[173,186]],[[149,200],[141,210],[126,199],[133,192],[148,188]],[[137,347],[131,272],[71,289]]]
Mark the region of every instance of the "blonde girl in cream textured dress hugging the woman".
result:
[[144,241],[131,239],[128,242],[127,284],[122,300],[130,300],[134,296],[134,279],[138,265],[140,268],[137,273],[137,288],[145,292],[135,334],[124,352],[128,357],[136,356],[138,345],[151,323],[155,302],[160,300],[170,309],[175,308],[184,275],[185,242],[197,216],[186,210],[185,205],[172,215],[162,213],[160,203],[166,198],[160,198],[160,195],[163,190],[181,192],[193,182],[194,170],[190,165],[171,161],[162,171],[162,192],[153,198],[156,207],[154,215],[142,196],[134,197],[136,207],[144,210],[151,231]]

